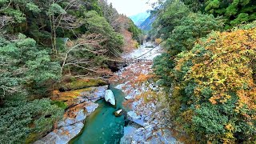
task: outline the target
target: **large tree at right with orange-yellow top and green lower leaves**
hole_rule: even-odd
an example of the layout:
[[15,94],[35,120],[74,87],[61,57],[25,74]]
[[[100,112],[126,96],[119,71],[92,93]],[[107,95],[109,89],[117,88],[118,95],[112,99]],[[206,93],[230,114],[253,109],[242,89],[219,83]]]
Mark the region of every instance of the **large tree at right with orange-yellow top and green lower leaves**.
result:
[[194,142],[254,142],[256,28],[213,32],[178,54],[171,76],[174,122]]

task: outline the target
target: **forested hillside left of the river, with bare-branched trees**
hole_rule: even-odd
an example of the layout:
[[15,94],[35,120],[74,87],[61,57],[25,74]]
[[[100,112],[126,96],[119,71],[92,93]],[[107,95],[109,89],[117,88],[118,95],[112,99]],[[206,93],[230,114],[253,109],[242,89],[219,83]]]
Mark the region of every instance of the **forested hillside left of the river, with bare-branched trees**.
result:
[[103,0],[2,0],[0,19],[0,143],[49,133],[66,109],[49,98],[59,83],[110,74],[127,45],[123,34],[134,45],[142,38]]

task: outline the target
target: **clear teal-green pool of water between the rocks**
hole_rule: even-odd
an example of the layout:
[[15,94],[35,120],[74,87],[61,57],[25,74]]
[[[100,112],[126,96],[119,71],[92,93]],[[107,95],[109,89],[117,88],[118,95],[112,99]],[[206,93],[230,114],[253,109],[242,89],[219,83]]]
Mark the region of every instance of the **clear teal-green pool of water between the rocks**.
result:
[[86,118],[85,126],[70,144],[115,144],[119,143],[124,132],[124,116],[115,117],[114,111],[123,109],[125,95],[122,90],[110,86],[116,99],[116,106],[111,106],[104,99],[99,100],[98,108]]

